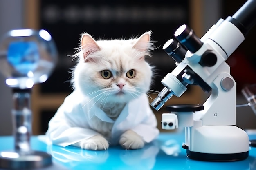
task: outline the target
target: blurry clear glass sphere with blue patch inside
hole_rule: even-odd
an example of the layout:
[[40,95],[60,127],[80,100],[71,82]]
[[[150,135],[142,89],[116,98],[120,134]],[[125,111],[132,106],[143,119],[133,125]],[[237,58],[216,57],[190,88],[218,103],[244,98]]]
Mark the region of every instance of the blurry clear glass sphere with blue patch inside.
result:
[[12,88],[45,82],[57,59],[56,45],[45,30],[11,30],[0,40],[0,71]]

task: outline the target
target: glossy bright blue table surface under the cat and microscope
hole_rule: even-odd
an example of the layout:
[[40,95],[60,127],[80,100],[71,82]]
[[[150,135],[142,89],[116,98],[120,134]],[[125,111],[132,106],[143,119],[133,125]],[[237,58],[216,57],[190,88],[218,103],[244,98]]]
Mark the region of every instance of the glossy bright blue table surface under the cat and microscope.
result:
[[[45,170],[256,170],[254,147],[250,147],[249,157],[243,161],[204,162],[187,158],[186,150],[182,149],[184,132],[160,133],[157,140],[138,150],[124,150],[120,146],[103,151],[47,146],[42,137],[31,137],[31,148],[52,155],[53,165]],[[256,139],[256,134],[249,135],[249,139]],[[2,136],[0,144],[0,151],[13,150],[14,139]]]

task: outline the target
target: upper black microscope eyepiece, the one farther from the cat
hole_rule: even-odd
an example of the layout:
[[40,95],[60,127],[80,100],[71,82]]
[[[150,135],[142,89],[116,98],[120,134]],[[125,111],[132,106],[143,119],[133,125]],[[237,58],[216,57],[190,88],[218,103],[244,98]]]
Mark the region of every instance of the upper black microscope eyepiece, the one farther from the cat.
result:
[[191,53],[195,53],[203,45],[200,38],[198,38],[198,36],[195,35],[194,31],[185,24],[180,26],[175,31],[174,36]]

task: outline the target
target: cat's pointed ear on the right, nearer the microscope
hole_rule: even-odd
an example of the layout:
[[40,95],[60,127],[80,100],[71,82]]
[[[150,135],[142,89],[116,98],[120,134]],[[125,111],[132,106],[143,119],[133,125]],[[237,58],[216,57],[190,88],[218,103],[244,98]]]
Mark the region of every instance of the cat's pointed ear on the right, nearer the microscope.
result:
[[142,34],[139,38],[137,38],[137,41],[135,42],[135,45],[133,48],[141,51],[146,52],[150,48],[150,36],[151,31],[148,31],[144,34]]

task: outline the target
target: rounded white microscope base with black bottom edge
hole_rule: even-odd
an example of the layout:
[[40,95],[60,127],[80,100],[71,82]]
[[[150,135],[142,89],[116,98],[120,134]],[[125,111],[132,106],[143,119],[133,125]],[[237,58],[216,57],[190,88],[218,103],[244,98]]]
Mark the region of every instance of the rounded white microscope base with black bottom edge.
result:
[[249,137],[237,126],[194,126],[186,128],[187,156],[201,161],[239,161],[249,156]]

